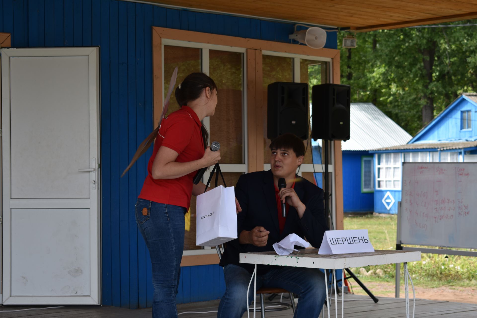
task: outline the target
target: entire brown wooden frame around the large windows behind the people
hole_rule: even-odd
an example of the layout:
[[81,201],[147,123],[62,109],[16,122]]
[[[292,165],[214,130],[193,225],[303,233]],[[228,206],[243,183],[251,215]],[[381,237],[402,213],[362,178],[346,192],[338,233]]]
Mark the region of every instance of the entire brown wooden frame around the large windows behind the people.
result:
[[[222,45],[246,50],[246,122],[247,122],[247,171],[253,172],[263,169],[263,101],[262,101],[262,54],[263,51],[273,51],[294,55],[319,57],[331,59],[332,83],[340,83],[340,51],[335,49],[311,49],[305,45],[281,43],[274,41],[264,41],[246,39],[227,35],[217,35],[211,33],[184,31],[160,27],[152,27],[152,47],[153,47],[153,101],[154,116],[153,127],[159,121],[163,103],[163,52],[162,41],[177,40],[191,43],[202,43],[212,45]],[[343,194],[342,194],[342,153],[341,141],[334,141],[332,144],[332,156],[334,159],[332,177],[335,180],[335,228],[343,229]],[[203,252],[199,252],[203,251]],[[197,255],[184,255],[181,266],[218,264],[218,256],[214,250],[197,250],[197,252],[186,251]],[[206,254],[206,253],[215,254]]]

